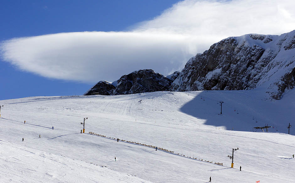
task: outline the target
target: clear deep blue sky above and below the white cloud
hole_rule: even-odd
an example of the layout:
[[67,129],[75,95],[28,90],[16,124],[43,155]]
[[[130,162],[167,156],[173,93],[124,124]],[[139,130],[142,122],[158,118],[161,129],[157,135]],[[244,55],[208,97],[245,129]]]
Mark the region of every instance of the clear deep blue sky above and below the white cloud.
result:
[[[137,22],[160,15],[175,2],[177,1],[3,0],[0,6],[0,40],[60,32],[122,31]],[[95,84],[42,77],[21,71],[3,60],[0,60],[0,71],[0,100],[82,95]]]

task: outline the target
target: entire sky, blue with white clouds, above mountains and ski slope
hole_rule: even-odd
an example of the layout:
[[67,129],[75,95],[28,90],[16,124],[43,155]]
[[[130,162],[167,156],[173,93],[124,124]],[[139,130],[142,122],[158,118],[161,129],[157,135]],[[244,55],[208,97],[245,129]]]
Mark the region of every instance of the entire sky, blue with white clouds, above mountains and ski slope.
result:
[[[2,1],[0,100],[168,75],[229,36],[295,30],[294,0]],[[234,15],[234,16],[233,16]]]

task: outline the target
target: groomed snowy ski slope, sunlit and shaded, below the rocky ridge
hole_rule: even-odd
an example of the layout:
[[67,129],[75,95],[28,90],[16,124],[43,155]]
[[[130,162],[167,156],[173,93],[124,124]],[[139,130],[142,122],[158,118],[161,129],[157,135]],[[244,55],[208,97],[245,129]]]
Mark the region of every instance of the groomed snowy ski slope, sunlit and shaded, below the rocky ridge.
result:
[[277,101],[256,89],[1,100],[0,182],[294,182],[293,90]]

